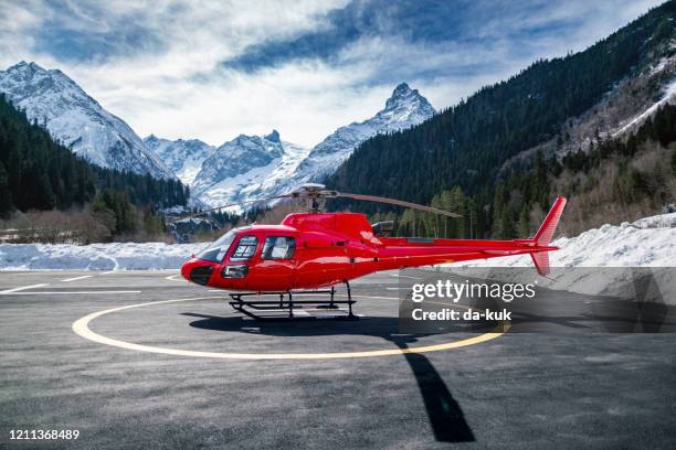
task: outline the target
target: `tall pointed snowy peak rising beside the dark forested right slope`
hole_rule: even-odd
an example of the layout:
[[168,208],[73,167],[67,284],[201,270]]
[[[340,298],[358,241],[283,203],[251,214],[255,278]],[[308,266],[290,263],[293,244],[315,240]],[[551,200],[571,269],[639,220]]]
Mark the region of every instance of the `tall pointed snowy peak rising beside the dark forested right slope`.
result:
[[400,84],[385,101],[384,109],[376,116],[362,122],[340,127],[319,142],[276,193],[292,191],[307,182],[320,182],[326,175],[334,173],[365,140],[376,135],[411,128],[425,121],[434,113],[432,105],[418,89],[411,89],[405,83]]

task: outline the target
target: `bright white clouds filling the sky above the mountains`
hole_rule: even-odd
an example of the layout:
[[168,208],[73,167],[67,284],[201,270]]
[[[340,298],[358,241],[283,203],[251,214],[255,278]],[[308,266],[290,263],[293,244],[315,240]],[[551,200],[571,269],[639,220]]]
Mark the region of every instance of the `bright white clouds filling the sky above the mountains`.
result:
[[[250,45],[330,26],[326,13],[346,1],[126,0],[105,8],[64,3],[72,14],[57,13],[39,0],[22,7],[3,2],[0,64],[27,60],[61,68],[141,136],[154,132],[220,144],[239,133],[276,128],[283,139],[310,147],[337,127],[382,108],[399,82],[409,82],[441,109],[537,57],[582,50],[656,3],[634,0],[617,8],[613,2],[579,1],[552,4],[538,17],[497,14],[476,28],[476,36],[488,44],[413,44],[369,36],[342,49],[330,64],[291,61],[253,74],[220,65]],[[34,47],[31,33],[47,20],[83,32],[115,31],[134,21],[159,45],[136,53],[123,43],[123,54],[76,62]],[[527,46],[510,40],[519,29],[566,20],[580,21],[570,35],[540,38]]]

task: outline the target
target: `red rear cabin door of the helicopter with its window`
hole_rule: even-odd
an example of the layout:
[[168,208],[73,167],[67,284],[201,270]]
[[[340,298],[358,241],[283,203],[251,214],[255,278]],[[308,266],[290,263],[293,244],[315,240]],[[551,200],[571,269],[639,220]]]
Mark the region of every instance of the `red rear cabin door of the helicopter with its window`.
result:
[[[296,239],[292,236],[267,236],[256,265],[258,282],[268,289],[287,290],[294,287]],[[283,289],[279,289],[282,288]]]

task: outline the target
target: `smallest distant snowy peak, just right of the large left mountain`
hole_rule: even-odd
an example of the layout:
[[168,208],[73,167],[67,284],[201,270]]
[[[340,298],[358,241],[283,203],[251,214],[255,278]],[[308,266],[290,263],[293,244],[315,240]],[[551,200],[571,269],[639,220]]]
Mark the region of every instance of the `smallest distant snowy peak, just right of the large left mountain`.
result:
[[150,135],[144,143],[167,164],[183,184],[192,184],[202,169],[202,163],[215,150],[215,147],[199,139],[169,140]]

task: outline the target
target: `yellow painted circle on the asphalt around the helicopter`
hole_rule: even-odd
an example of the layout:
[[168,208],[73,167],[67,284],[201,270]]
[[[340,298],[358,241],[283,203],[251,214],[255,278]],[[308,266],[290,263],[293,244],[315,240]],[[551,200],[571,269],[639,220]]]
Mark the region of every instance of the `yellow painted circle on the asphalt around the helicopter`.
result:
[[[368,296],[359,296],[367,298]],[[381,297],[384,299],[384,297]],[[200,352],[192,350],[180,350],[180,349],[166,349],[151,345],[140,345],[133,342],[119,341],[112,338],[106,338],[102,334],[95,333],[89,330],[89,322],[94,319],[104,314],[110,314],[128,310],[131,308],[148,307],[151,304],[162,303],[178,303],[181,301],[194,301],[194,300],[210,300],[210,299],[222,299],[222,297],[194,297],[189,299],[176,299],[176,300],[161,300],[151,301],[147,303],[129,304],[127,307],[112,308],[104,311],[93,312],[92,314],[85,315],[73,322],[73,331],[84,339],[89,341],[98,342],[99,344],[112,345],[120,349],[135,350],[137,352],[149,352],[149,353],[161,353],[166,355],[177,356],[193,356],[193,357],[214,357],[224,360],[334,360],[334,358],[347,358],[347,357],[373,357],[373,356],[390,356],[401,355],[405,353],[425,353],[425,352],[439,352],[441,350],[460,349],[468,345],[479,344],[482,342],[490,341],[499,338],[509,330],[509,323],[505,322],[488,333],[479,334],[477,336],[463,339],[460,341],[446,342],[443,344],[424,345],[419,347],[410,349],[388,349],[388,350],[374,350],[367,352],[336,352],[336,353],[219,353],[219,352]],[[391,297],[388,299],[397,300]]]

